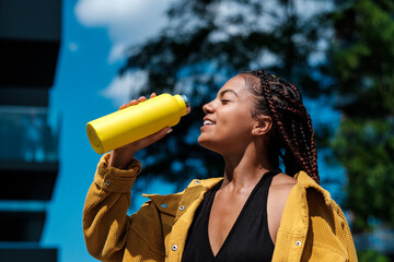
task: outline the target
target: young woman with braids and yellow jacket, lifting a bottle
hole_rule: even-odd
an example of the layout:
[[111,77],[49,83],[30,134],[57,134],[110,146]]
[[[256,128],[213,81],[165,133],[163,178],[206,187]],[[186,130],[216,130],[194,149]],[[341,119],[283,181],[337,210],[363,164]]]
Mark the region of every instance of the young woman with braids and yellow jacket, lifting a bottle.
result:
[[244,72],[202,110],[198,142],[223,157],[223,178],[195,179],[176,194],[147,195],[150,201],[128,216],[130,189],[141,171],[134,154],[171,129],[104,155],[83,213],[92,255],[103,261],[357,261],[341,210],[318,186],[311,119],[297,87],[263,70]]

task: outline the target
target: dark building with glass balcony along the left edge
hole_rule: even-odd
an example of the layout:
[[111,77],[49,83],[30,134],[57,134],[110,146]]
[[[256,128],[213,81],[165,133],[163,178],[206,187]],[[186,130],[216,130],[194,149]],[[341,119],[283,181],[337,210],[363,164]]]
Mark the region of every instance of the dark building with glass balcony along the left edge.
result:
[[[0,261],[57,261],[57,249],[39,241],[59,170],[48,94],[60,36],[60,0],[0,0],[0,179],[7,184],[0,192]],[[40,207],[31,210],[32,202]]]

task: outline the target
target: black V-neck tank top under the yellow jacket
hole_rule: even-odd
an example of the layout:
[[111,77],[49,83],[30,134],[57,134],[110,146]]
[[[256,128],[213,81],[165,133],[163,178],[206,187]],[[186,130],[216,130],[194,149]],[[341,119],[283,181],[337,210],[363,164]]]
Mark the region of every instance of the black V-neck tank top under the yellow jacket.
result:
[[275,245],[268,230],[267,196],[273,177],[278,172],[266,172],[255,186],[216,257],[209,242],[208,222],[215,194],[222,181],[208,191],[190,225],[182,261],[271,261]]

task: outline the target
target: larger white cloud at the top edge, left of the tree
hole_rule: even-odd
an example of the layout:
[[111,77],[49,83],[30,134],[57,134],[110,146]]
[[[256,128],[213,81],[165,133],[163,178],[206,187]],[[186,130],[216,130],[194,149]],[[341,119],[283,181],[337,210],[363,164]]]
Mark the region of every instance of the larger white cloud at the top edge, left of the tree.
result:
[[89,27],[104,27],[113,40],[108,62],[125,58],[125,49],[157,34],[166,23],[165,11],[173,0],[79,0],[78,21]]

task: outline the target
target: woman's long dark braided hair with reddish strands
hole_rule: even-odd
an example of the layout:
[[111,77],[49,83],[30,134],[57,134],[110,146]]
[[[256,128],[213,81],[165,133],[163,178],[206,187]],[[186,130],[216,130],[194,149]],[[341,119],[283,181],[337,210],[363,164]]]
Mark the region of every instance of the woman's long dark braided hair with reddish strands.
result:
[[273,118],[268,145],[271,163],[279,166],[280,156],[288,175],[294,176],[303,170],[318,183],[312,121],[300,91],[264,70],[247,71],[240,75],[245,79],[246,88],[256,98],[252,116],[263,114]]

